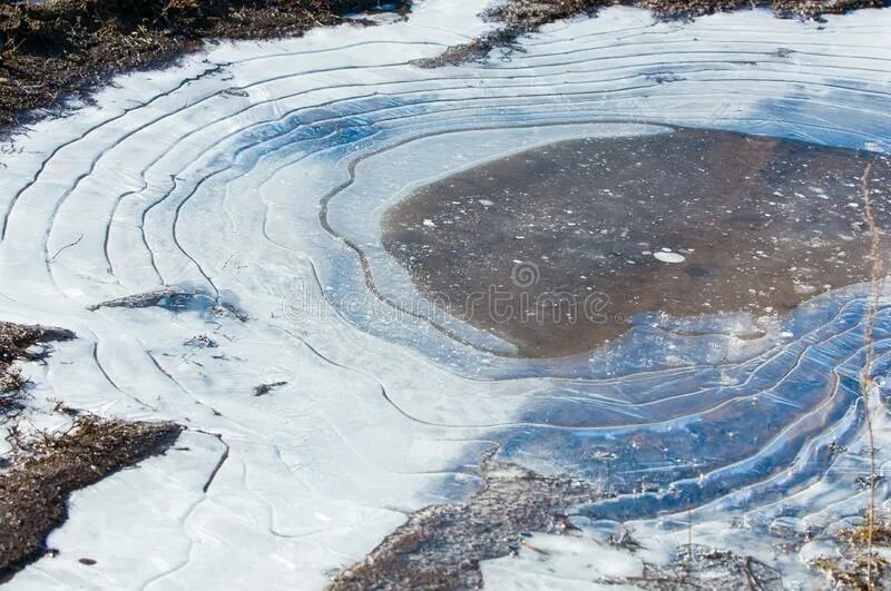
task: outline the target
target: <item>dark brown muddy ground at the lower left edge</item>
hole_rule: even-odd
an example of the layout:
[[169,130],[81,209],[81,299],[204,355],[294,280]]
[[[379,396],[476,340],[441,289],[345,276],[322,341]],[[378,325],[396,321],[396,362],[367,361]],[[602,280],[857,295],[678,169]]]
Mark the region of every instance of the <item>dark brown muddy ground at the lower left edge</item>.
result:
[[25,433],[28,380],[21,361],[39,361],[70,331],[0,322],[0,430],[11,451],[0,456],[0,583],[47,551],[49,533],[67,519],[71,492],[146,457],[179,436],[172,423],[130,423],[81,413],[61,403],[70,420],[59,432]]

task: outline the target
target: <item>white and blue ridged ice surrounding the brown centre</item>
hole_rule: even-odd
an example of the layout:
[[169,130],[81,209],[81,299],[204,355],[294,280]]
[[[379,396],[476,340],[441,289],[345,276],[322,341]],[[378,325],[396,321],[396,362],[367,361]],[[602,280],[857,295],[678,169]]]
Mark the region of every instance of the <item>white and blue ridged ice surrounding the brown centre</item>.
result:
[[[665,318],[588,354],[523,359],[457,318],[430,324],[380,219],[495,158],[665,126],[888,152],[891,12],[655,23],[616,8],[484,65],[409,65],[481,31],[480,8],[430,1],[407,22],[221,43],[14,138],[0,167],[0,317],[79,336],[37,395],[192,431],[77,494],[49,541],[60,555],[12,588],[317,589],[407,512],[462,499],[493,444],[618,493],[580,509],[593,519],[692,501],[703,539],[732,543],[718,533],[728,515],[766,531],[858,513],[864,286],[789,316]],[[90,309],[165,287],[203,295]],[[202,336],[217,347],[196,347]],[[635,525],[670,544],[684,519]]]

